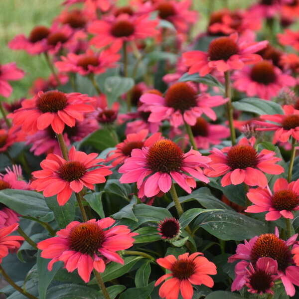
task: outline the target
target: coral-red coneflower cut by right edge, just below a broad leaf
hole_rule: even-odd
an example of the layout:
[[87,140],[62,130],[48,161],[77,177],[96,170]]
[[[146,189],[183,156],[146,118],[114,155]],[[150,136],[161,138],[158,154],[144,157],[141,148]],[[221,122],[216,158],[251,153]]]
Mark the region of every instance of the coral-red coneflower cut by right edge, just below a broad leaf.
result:
[[287,142],[290,137],[299,140],[299,110],[296,110],[291,105],[283,106],[285,114],[274,114],[274,115],[261,115],[262,120],[277,123],[266,123],[256,121],[262,127],[259,131],[275,131],[273,137],[273,143],[276,144],[278,141]]

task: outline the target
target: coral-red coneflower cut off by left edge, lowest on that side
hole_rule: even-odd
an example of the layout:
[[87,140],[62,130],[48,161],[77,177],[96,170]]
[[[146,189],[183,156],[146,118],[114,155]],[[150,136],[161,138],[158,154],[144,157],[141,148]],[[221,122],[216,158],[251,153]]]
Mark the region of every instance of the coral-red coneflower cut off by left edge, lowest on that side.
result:
[[2,258],[5,258],[9,251],[17,251],[24,238],[21,236],[9,236],[12,232],[16,231],[18,224],[12,224],[7,227],[0,228],[0,263],[2,263]]

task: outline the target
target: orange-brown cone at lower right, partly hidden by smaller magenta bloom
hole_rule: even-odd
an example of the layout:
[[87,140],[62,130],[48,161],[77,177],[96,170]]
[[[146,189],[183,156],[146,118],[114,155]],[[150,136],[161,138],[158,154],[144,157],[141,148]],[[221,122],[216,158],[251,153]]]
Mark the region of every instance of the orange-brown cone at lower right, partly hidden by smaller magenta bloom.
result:
[[289,247],[274,234],[263,234],[254,243],[250,256],[252,264],[255,265],[262,257],[277,260],[278,269],[281,271],[284,271],[292,260]]

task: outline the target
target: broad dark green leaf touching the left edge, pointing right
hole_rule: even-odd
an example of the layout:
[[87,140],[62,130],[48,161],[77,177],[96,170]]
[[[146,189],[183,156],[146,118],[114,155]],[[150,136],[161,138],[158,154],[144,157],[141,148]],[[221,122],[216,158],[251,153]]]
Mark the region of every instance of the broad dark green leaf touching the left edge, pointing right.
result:
[[54,219],[43,195],[35,191],[4,189],[0,191],[0,202],[23,216],[31,216],[44,222]]

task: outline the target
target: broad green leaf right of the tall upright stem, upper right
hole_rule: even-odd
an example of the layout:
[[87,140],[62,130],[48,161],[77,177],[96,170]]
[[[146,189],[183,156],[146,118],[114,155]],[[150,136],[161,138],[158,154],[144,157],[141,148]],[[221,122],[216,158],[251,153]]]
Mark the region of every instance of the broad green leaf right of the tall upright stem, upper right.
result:
[[263,114],[284,114],[281,105],[258,98],[245,98],[232,103],[234,108],[241,111]]

